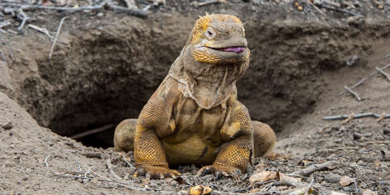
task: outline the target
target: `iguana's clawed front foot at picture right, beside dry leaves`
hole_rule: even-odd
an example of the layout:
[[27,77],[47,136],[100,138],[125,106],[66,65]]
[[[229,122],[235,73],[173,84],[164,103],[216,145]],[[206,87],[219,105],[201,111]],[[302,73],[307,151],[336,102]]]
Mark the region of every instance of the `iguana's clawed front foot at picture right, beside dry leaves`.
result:
[[215,175],[215,180],[217,180],[221,175],[225,177],[234,177],[241,174],[241,171],[234,167],[224,166],[224,165],[208,165],[202,167],[197,173],[197,176],[205,176],[207,173],[213,173]]

